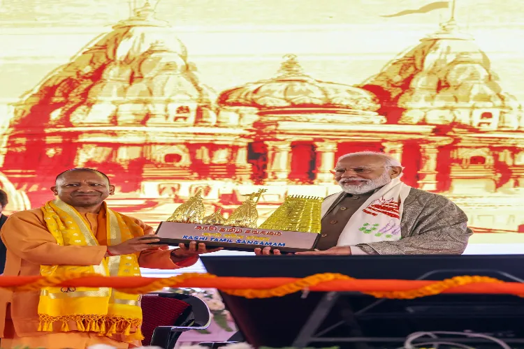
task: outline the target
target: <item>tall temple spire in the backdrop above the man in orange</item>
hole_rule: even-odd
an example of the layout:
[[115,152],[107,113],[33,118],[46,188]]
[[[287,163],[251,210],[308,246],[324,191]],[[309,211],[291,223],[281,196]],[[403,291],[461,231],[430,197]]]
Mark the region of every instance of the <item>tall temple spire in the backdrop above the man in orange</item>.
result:
[[194,124],[213,119],[215,101],[184,44],[146,2],[22,96],[13,125]]

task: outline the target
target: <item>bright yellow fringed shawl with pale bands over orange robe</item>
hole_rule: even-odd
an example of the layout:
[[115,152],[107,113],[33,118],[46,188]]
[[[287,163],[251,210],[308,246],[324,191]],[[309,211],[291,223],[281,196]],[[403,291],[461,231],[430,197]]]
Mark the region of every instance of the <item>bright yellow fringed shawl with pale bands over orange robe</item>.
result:
[[[129,217],[122,216],[103,204],[108,246],[144,235],[143,229]],[[61,200],[42,207],[45,224],[60,246],[97,246],[89,223],[73,207]],[[42,276],[61,276],[71,272],[103,276],[140,276],[138,255],[115,255],[104,258],[100,265],[42,265]],[[101,336],[121,335],[124,341],[143,339],[140,332],[142,309],[140,296],[117,292],[111,288],[59,288],[41,290],[38,303],[38,331],[96,332]],[[73,325],[74,324],[74,325]],[[73,329],[71,329],[73,327]]]

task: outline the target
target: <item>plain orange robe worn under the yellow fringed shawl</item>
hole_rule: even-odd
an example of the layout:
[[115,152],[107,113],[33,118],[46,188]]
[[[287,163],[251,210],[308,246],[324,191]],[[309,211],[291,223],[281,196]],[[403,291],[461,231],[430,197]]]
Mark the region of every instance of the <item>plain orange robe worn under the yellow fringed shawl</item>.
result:
[[[41,265],[99,265],[107,251],[105,210],[101,209],[99,214],[85,214],[85,218],[100,246],[59,246],[45,225],[41,209],[20,211],[11,215],[0,233],[7,247],[4,275],[40,275]],[[144,235],[154,233],[153,228],[142,221],[138,219],[133,219],[133,221],[144,230]],[[143,251],[138,258],[140,267],[151,269],[189,267],[197,260],[198,256],[195,255],[175,264],[170,259],[170,251],[161,249]],[[0,290],[1,338],[49,334],[49,332],[38,332],[37,330],[39,298],[39,291]],[[54,332],[60,332],[59,327],[55,328]],[[69,334],[80,333],[69,332]],[[113,338],[119,339],[117,335]]]

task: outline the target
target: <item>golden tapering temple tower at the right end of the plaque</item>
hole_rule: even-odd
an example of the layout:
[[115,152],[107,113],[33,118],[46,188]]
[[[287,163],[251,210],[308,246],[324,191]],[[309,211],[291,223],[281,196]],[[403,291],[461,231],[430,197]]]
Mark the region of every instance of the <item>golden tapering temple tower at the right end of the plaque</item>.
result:
[[288,196],[260,228],[319,233],[322,201],[314,196]]

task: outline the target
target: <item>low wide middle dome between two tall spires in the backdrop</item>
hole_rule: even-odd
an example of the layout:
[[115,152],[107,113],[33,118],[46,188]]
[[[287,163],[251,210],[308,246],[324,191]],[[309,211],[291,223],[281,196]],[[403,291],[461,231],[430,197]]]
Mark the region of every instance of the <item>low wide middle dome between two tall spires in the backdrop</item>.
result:
[[315,80],[303,72],[294,54],[284,59],[276,77],[226,90],[219,96],[219,105],[260,110],[321,107],[374,112],[379,109],[378,99],[369,91]]

